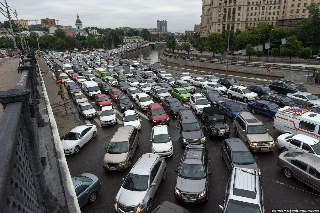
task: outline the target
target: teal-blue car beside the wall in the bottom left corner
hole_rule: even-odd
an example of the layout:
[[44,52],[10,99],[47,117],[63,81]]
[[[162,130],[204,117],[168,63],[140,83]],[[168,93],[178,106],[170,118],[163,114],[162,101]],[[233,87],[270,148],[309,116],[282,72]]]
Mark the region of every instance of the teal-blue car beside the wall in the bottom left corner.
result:
[[101,189],[101,183],[97,176],[90,173],[83,173],[71,177],[71,179],[75,187],[80,208],[88,202],[93,203],[97,200]]

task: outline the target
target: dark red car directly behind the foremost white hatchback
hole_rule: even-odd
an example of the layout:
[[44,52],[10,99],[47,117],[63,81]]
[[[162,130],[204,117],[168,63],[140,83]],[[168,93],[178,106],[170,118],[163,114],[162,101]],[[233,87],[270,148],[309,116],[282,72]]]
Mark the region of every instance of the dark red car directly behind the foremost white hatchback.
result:
[[160,103],[150,103],[147,108],[147,116],[152,122],[152,126],[169,125],[170,119],[167,111],[160,105]]

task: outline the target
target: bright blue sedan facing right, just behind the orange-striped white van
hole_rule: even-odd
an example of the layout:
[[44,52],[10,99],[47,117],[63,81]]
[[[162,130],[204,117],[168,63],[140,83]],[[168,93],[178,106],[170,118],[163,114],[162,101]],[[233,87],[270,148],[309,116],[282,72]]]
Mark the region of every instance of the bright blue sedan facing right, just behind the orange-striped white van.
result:
[[276,103],[264,100],[251,101],[247,106],[247,109],[251,113],[261,113],[270,117],[271,119],[275,119],[276,111],[279,108],[280,107]]

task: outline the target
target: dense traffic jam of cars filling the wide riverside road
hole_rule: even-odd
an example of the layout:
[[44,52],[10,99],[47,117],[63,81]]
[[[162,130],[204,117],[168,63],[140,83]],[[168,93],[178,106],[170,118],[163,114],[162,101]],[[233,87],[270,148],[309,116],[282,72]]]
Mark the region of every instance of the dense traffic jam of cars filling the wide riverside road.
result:
[[116,56],[44,54],[85,123],[61,140],[84,212],[262,213],[292,208],[288,194],[319,203],[319,94]]

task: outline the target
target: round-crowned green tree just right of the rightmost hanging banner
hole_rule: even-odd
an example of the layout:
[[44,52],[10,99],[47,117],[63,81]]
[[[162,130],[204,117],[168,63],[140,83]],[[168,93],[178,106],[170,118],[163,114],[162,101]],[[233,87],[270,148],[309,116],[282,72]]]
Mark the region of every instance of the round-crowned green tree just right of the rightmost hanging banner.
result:
[[298,56],[302,48],[302,42],[292,36],[286,39],[285,44],[280,45],[280,54],[290,56],[291,61],[292,56]]

